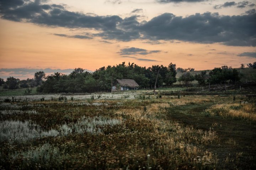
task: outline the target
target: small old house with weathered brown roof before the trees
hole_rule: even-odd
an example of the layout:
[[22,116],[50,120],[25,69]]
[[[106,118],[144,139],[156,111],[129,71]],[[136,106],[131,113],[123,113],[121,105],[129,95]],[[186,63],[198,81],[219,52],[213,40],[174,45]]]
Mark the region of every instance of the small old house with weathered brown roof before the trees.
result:
[[137,90],[139,85],[132,79],[117,79],[117,86],[112,87],[113,90]]

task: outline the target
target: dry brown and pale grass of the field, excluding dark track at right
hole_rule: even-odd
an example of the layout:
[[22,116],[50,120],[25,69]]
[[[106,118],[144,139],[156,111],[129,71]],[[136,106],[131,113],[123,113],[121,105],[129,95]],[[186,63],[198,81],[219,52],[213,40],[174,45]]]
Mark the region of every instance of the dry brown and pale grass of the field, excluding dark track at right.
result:
[[[217,169],[219,158],[207,148],[222,144],[218,133],[209,126],[202,130],[168,117],[171,109],[182,112],[181,108],[217,99],[102,97],[91,103],[85,99],[1,103],[1,123],[10,124],[1,131],[13,132],[0,142],[0,169]],[[224,107],[253,114],[251,105]],[[20,133],[17,122],[27,140],[9,142]],[[214,129],[219,126],[212,124]],[[234,145],[235,141],[228,142]]]

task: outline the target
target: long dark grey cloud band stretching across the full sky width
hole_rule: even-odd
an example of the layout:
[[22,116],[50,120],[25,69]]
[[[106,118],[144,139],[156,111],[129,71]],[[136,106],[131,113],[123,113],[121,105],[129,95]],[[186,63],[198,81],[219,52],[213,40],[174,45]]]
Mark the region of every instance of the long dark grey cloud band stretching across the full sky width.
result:
[[[247,4],[250,5],[249,2]],[[62,5],[41,4],[40,0],[1,0],[0,15],[2,19],[16,22],[31,22],[48,27],[86,28],[98,32],[90,36],[74,35],[71,38],[100,36],[104,40],[118,41],[179,40],[222,43],[230,46],[256,46],[255,13],[220,16],[218,13],[207,12],[185,18],[164,13],[148,22],[138,22],[139,16],[124,19],[119,16],[91,16],[81,12],[70,12]]]

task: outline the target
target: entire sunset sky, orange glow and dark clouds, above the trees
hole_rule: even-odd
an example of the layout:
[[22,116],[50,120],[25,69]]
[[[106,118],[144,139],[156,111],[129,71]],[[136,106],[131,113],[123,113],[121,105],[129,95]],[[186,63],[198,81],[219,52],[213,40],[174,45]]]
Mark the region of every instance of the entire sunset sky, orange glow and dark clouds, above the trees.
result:
[[0,78],[256,61],[256,0],[0,0]]

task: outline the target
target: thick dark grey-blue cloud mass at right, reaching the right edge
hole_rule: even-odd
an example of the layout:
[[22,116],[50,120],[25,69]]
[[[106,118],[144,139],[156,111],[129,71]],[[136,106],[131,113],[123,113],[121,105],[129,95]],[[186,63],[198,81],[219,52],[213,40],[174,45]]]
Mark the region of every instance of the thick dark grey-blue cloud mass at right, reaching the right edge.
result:
[[255,28],[255,14],[220,16],[210,12],[186,18],[164,13],[140,26],[147,39],[220,42],[231,46],[256,46]]

